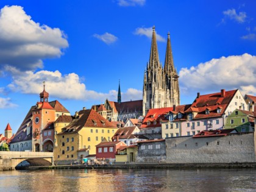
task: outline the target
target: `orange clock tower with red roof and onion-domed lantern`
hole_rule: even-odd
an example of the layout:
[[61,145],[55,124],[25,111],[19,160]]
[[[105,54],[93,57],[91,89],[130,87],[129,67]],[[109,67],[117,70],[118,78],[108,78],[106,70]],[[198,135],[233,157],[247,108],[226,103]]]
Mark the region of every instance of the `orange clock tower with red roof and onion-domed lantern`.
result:
[[55,121],[55,110],[48,102],[49,93],[45,91],[43,82],[43,92],[40,93],[40,102],[37,102],[32,110],[32,151],[43,151],[42,130],[49,122]]

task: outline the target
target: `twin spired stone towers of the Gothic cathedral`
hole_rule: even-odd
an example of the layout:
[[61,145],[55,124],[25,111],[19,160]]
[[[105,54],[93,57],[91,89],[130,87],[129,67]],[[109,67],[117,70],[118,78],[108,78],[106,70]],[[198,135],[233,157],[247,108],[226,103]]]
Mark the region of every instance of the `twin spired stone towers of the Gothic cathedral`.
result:
[[157,37],[153,27],[151,53],[144,72],[143,115],[151,108],[180,105],[179,76],[172,58],[171,40],[168,33],[165,66],[159,61]]

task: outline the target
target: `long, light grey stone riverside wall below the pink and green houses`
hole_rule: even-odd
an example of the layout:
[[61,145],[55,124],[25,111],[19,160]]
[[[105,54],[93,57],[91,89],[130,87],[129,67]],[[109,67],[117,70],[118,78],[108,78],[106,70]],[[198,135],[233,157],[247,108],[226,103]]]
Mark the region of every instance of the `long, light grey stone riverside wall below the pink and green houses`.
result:
[[166,163],[255,162],[254,133],[166,138]]

